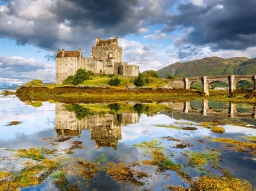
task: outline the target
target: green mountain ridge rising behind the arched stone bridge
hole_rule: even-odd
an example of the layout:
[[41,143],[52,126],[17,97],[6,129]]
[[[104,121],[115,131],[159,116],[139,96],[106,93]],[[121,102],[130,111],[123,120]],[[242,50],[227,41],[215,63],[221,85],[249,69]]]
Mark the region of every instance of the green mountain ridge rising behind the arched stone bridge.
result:
[[159,77],[167,78],[168,75],[172,76],[172,69],[174,70],[174,76],[177,78],[201,77],[204,75],[256,74],[256,58],[207,57],[188,62],[172,63],[156,72]]

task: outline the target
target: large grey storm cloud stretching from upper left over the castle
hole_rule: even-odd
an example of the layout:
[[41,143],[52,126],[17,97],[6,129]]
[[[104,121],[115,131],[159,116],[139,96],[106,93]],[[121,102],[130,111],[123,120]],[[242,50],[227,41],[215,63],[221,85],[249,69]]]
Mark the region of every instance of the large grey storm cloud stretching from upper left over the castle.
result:
[[93,44],[95,37],[137,33],[145,27],[148,18],[161,15],[161,0],[154,2],[10,1],[0,7],[0,37],[14,39],[18,45],[32,44],[47,50],[83,48]]

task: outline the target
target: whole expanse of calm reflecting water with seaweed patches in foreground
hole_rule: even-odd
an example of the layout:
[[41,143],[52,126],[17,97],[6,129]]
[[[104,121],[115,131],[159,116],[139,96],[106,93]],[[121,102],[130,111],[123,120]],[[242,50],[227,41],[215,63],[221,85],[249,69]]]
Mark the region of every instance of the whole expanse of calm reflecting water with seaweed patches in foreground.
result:
[[0,105],[0,190],[256,188],[250,104]]

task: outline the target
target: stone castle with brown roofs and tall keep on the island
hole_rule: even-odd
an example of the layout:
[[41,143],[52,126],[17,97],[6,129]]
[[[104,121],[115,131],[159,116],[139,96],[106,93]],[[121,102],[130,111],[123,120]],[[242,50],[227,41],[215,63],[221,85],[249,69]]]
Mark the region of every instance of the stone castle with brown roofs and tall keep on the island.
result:
[[137,77],[139,66],[122,62],[122,47],[115,39],[96,38],[90,57],[82,57],[81,49],[76,51],[58,50],[56,62],[56,84],[61,84],[69,75],[75,75],[78,69],[86,69],[96,74],[118,74]]

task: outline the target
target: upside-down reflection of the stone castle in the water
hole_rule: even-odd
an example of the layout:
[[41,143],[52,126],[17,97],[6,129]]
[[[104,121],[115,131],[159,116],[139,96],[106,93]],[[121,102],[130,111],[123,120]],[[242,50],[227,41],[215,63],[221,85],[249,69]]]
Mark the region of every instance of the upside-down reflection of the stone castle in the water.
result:
[[95,148],[114,147],[117,150],[118,140],[122,138],[121,127],[135,124],[139,120],[138,113],[95,114],[77,120],[74,112],[69,112],[62,103],[56,103],[55,129],[57,136],[78,136],[84,129],[90,130]]

